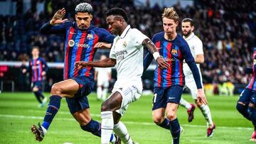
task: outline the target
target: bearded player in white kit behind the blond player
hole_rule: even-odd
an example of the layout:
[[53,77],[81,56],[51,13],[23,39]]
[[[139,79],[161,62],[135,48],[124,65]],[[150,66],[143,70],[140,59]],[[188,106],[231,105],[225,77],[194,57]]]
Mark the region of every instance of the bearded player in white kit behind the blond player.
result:
[[[196,61],[196,65],[198,67],[201,79],[202,74],[200,72],[200,64],[203,63],[204,57],[203,57],[203,43],[194,33],[194,26],[193,26],[193,20],[191,18],[184,18],[181,23],[181,31],[183,34],[183,38],[188,43],[188,46],[191,50],[191,53]],[[198,108],[202,111],[203,116],[206,118],[207,123],[207,137],[213,136],[213,132],[215,130],[215,124],[213,123],[213,120],[211,118],[210,114],[210,108],[207,104],[203,104],[200,101],[197,101],[196,95],[197,95],[197,88],[196,88],[196,82],[193,79],[193,74],[188,67],[186,63],[183,65],[183,72],[185,74],[185,84],[188,89],[191,91],[191,95],[193,99],[196,102],[196,105]],[[202,83],[202,82],[201,82]],[[203,83],[202,83],[203,85]],[[186,107],[188,111],[188,122],[191,122],[193,120],[193,111],[195,110],[196,106],[193,104],[189,104],[188,101],[181,98],[180,105]]]

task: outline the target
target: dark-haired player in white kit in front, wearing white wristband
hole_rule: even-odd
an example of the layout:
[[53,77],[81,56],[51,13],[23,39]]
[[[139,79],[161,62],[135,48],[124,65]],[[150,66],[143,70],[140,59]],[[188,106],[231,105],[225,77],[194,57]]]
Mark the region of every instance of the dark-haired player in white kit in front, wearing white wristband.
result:
[[82,67],[113,67],[117,68],[117,81],[112,94],[102,103],[102,138],[101,143],[109,143],[110,135],[119,135],[123,143],[132,144],[126,126],[120,118],[128,105],[137,101],[142,94],[143,47],[149,49],[161,69],[169,64],[160,57],[156,46],[136,28],[127,24],[127,14],[123,9],[113,8],[107,11],[107,24],[111,33],[117,35],[110,50],[110,58],[98,62],[76,62],[76,69]]

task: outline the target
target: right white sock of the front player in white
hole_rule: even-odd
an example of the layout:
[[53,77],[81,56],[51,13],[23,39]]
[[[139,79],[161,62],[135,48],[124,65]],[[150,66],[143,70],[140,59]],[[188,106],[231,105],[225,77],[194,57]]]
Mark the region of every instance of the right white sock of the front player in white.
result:
[[132,138],[127,131],[127,127],[121,121],[114,125],[114,133],[122,140],[124,144],[132,144]]

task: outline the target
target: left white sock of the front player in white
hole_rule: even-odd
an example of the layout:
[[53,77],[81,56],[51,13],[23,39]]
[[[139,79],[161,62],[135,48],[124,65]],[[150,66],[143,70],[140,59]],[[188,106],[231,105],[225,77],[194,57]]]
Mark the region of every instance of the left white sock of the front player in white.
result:
[[114,127],[113,114],[112,111],[102,111],[100,115],[102,117],[101,143],[108,144],[110,143],[110,137]]

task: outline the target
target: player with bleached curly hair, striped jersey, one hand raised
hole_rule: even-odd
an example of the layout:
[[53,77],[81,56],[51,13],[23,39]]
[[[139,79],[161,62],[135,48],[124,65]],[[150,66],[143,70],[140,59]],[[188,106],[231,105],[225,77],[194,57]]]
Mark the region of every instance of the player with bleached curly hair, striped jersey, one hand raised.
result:
[[[65,40],[65,60],[63,69],[64,80],[53,84],[50,91],[50,101],[42,125],[33,125],[31,131],[36,135],[36,140],[43,140],[50,123],[60,109],[60,100],[65,97],[70,113],[80,123],[84,131],[100,137],[100,123],[92,120],[89,111],[87,95],[94,87],[93,67],[75,70],[75,62],[93,60],[97,48],[110,48],[114,35],[103,28],[97,28],[92,21],[92,6],[87,3],[75,7],[75,22],[63,19],[65,9],[58,10],[53,18],[42,26],[43,34],[61,34]],[[106,42],[106,43],[98,43]],[[111,142],[117,141],[112,135]]]

